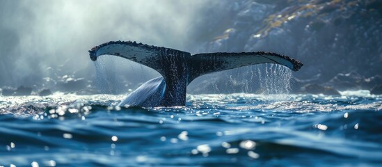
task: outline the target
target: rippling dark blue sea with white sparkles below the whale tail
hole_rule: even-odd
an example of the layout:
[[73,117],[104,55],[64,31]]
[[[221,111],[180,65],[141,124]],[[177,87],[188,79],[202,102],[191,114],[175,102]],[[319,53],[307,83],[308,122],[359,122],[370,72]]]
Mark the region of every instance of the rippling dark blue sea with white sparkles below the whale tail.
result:
[[0,166],[381,166],[382,97],[342,94],[0,96]]

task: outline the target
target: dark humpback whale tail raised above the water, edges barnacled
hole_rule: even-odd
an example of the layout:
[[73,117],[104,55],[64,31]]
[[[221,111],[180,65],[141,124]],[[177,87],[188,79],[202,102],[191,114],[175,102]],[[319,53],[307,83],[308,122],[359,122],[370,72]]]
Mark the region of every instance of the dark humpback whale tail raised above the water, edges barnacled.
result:
[[98,56],[113,55],[157,70],[162,77],[152,79],[120,102],[120,106],[184,106],[186,87],[203,74],[230,70],[247,65],[276,63],[298,71],[303,63],[276,53],[257,51],[242,53],[194,54],[155,47],[131,41],[111,41],[89,51],[90,59]]

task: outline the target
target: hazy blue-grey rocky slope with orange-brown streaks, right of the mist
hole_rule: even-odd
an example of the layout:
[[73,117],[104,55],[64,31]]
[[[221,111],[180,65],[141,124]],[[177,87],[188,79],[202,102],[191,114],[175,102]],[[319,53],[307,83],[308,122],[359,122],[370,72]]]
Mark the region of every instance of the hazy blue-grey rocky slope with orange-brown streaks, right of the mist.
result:
[[[226,31],[206,42],[201,51],[264,50],[289,55],[305,64],[293,74],[296,80],[310,80],[324,88],[371,90],[382,84],[381,1],[248,0],[231,6],[231,22],[216,25]],[[227,75],[248,78],[234,72]]]

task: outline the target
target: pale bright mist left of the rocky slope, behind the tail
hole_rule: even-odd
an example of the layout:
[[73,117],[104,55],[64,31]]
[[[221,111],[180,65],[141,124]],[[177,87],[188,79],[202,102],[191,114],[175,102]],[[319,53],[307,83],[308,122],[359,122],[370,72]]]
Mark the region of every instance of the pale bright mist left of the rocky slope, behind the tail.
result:
[[33,86],[65,74],[94,77],[88,50],[110,40],[193,51],[205,6],[214,3],[0,1],[0,85]]

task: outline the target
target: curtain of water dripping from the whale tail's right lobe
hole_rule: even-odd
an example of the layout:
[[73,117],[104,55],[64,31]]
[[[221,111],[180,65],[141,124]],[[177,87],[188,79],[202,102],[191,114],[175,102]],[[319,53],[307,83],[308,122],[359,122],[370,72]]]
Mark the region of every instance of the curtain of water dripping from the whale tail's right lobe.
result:
[[[261,64],[231,70],[225,87],[231,93],[255,93],[268,100],[286,100],[291,90],[292,70],[278,64]],[[218,93],[225,94],[221,84],[214,84]],[[219,89],[220,88],[220,89]]]

